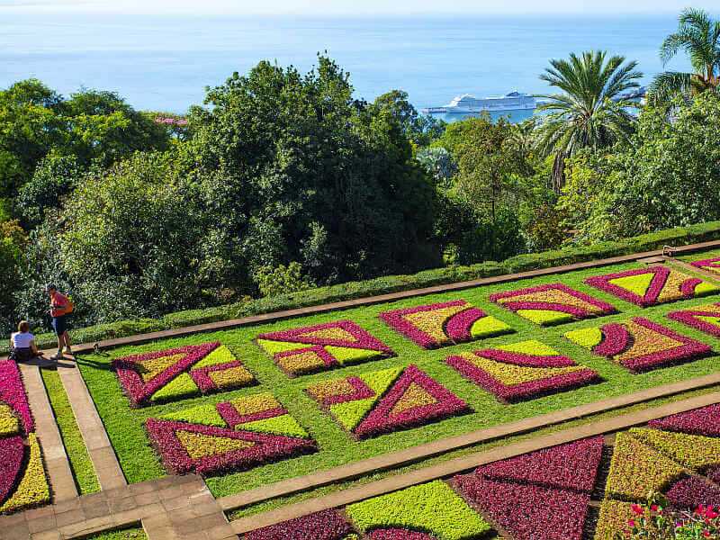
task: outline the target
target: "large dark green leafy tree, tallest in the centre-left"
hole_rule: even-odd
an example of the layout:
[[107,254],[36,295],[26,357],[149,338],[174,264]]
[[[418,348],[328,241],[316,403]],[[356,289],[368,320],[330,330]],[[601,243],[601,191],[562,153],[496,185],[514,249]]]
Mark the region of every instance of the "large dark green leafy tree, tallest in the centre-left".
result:
[[352,92],[329,58],[304,75],[261,62],[191,111],[188,171],[230,282],[293,261],[321,282],[428,264],[432,186],[392,110]]

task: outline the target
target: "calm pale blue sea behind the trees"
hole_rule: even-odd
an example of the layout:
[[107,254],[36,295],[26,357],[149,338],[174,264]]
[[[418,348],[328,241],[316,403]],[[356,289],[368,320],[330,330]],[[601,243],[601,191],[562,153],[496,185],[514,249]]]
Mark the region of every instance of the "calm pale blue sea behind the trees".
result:
[[647,81],[662,70],[657,51],[676,25],[673,16],[243,19],[0,8],[0,87],[34,76],[63,94],[107,89],[139,109],[184,112],[233,71],[261,59],[307,69],[327,50],[352,74],[357,97],[399,88],[422,108],[466,92],[543,93],[548,59],[585,49],[638,60]]

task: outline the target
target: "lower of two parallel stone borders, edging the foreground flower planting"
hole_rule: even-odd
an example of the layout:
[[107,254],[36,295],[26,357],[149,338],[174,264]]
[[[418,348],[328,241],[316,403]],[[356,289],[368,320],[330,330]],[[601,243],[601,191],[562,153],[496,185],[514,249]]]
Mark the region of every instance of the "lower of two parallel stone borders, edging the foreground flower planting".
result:
[[633,428],[645,424],[653,419],[662,419],[666,416],[685,412],[687,410],[698,409],[707,405],[720,403],[720,392],[712,392],[703,396],[691,398],[686,401],[678,401],[669,403],[653,409],[639,410],[625,415],[618,416],[614,419],[599,420],[591,424],[578,426],[576,428],[564,429],[551,435],[543,437],[535,437],[520,441],[508,446],[500,446],[485,452],[479,452],[472,455],[464,455],[452,460],[448,460],[442,464],[430,466],[418,471],[410,473],[398,474],[383,478],[376,482],[357,486],[345,491],[330,493],[316,499],[304,500],[302,502],[291,504],[280,509],[270,510],[247,518],[240,518],[231,521],[232,530],[237,534],[247,533],[262,527],[268,527],[283,523],[288,519],[302,518],[314,512],[321,510],[334,509],[354,502],[370,499],[383,495],[391,491],[398,491],[410,486],[445,478],[457,473],[469,471],[483,464],[509,459],[517,455],[535,452],[549,446],[562,445],[571,443],[582,438],[614,433],[627,428]]

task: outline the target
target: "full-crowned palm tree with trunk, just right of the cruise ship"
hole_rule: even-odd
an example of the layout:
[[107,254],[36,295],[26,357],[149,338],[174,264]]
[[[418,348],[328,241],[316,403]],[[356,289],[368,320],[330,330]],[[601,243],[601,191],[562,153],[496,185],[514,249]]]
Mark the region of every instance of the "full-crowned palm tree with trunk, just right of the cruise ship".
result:
[[626,139],[635,130],[635,117],[628,109],[636,104],[623,93],[640,85],[643,74],[637,62],[625,57],[606,57],[606,51],[574,53],[568,60],[551,60],[540,76],[563,94],[538,95],[542,117],[537,129],[537,148],[544,156],[554,155],[553,187],[565,184],[565,158],[581,148],[605,148]]

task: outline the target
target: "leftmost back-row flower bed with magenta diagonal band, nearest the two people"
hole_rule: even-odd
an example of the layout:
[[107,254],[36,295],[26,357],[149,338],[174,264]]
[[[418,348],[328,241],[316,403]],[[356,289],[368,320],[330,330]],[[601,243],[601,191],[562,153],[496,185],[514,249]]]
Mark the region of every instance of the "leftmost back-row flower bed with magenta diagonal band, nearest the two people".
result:
[[219,342],[125,356],[114,360],[112,367],[135,407],[255,383],[253,374]]

